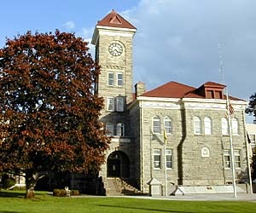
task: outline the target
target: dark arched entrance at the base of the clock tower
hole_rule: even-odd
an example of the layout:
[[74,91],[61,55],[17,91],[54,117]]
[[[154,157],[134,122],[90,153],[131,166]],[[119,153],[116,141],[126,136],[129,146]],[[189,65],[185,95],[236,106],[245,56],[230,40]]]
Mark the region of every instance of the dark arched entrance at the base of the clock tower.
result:
[[107,160],[108,177],[123,177],[130,176],[130,161],[127,155],[120,151],[114,151],[109,154]]

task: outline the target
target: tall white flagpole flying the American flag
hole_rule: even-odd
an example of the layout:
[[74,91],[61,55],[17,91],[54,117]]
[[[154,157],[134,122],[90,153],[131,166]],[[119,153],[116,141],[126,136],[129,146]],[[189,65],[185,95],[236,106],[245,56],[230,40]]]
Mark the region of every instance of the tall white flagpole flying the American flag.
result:
[[229,130],[230,130],[230,156],[231,156],[231,169],[232,169],[232,182],[233,182],[233,191],[234,197],[236,198],[236,169],[235,169],[235,162],[234,162],[234,149],[233,149],[233,140],[232,140],[232,128],[231,128],[231,120],[230,120],[230,101],[229,101],[229,94],[228,89],[226,89],[226,101],[227,101],[227,113],[228,113],[228,120],[229,120]]

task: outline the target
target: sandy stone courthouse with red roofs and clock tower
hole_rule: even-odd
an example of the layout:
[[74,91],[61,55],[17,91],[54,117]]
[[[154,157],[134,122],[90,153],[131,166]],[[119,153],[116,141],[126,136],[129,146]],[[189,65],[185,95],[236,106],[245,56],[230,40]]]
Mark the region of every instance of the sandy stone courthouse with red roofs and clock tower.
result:
[[140,82],[134,91],[136,32],[113,10],[98,21],[92,37],[102,67],[96,82],[96,92],[105,100],[100,119],[112,137],[100,171],[107,194],[119,179],[137,183],[143,193],[149,192],[148,182],[155,179],[161,193],[168,194],[172,185],[230,183],[230,130],[236,181],[247,180],[247,102],[230,97],[234,113],[229,129],[223,84],[207,82],[194,88],[169,82],[146,91]]

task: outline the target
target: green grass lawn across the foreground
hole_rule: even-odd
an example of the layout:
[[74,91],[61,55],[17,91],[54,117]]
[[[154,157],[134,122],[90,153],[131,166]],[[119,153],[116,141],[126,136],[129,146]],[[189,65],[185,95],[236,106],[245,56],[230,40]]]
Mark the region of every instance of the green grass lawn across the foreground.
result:
[[36,192],[35,199],[23,199],[24,192],[0,192],[0,213],[131,213],[131,212],[179,212],[224,213],[256,212],[256,203],[239,201],[174,201],[129,198],[56,198]]

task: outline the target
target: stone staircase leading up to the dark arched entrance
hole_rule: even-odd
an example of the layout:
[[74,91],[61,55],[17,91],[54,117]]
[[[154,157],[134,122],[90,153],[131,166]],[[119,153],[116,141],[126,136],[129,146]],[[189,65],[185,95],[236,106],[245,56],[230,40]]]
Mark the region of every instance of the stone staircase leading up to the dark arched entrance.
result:
[[143,195],[143,192],[137,189],[136,181],[132,179],[107,178],[105,187],[107,196]]

